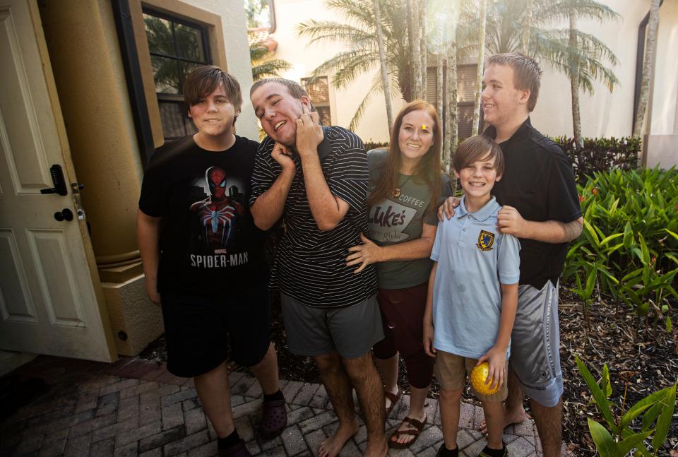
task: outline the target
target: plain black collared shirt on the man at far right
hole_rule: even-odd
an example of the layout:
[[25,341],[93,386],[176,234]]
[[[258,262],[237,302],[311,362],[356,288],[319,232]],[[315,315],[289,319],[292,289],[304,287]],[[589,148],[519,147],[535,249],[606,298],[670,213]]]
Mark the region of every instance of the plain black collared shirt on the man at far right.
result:
[[[496,138],[490,126],[484,135]],[[504,143],[504,177],[492,194],[500,205],[513,206],[523,219],[571,222],[581,218],[579,195],[572,164],[553,141],[539,133],[526,119]],[[568,243],[550,244],[521,238],[521,284],[541,289],[556,284],[563,271]]]

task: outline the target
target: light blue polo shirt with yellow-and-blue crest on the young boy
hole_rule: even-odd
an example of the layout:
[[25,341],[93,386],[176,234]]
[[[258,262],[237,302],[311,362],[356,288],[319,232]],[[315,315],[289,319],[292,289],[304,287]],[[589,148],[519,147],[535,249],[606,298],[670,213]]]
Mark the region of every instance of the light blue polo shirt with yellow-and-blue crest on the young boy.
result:
[[518,239],[496,230],[501,206],[494,197],[475,213],[465,197],[450,220],[439,222],[431,259],[438,262],[433,289],[434,348],[478,359],[496,343],[501,285],[521,276]]

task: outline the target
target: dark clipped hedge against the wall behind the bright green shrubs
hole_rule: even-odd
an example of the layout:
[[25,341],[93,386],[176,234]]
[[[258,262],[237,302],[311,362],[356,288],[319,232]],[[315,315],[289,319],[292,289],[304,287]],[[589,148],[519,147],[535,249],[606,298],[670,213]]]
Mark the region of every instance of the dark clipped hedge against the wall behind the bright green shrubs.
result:
[[579,184],[585,185],[595,172],[610,170],[635,170],[638,167],[640,138],[584,138],[584,147],[576,148],[574,138],[554,138],[572,162]]

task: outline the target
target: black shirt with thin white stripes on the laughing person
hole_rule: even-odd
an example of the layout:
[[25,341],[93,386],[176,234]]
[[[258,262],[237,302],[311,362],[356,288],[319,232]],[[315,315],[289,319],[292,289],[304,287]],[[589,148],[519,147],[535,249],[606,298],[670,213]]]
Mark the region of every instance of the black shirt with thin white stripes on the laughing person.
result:
[[[323,174],[333,195],[350,206],[339,224],[322,232],[311,214],[304,185],[302,163],[293,160],[297,173],[287,194],[283,218],[285,235],[278,244],[271,288],[309,307],[347,307],[376,293],[374,265],[354,274],[346,266],[348,248],[360,243],[367,227],[367,154],[355,133],[342,127],[323,127],[325,139],[318,146]],[[273,140],[264,138],[256,152],[250,204],[266,192],[282,168],[270,157]]]

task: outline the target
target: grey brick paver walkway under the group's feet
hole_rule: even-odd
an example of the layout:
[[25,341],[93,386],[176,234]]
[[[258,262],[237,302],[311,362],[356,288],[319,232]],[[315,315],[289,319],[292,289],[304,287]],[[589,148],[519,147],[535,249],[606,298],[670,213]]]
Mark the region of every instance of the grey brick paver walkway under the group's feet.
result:
[[[206,420],[192,381],[173,376],[165,364],[125,357],[114,364],[38,357],[8,375],[42,378],[49,391],[0,423],[1,456],[213,456],[215,433]],[[8,384],[8,377],[3,379]],[[338,426],[325,389],[318,384],[281,381],[288,405],[287,428],[270,441],[255,430],[261,420],[261,388],[246,374],[233,372],[233,413],[240,436],[260,456],[311,456]],[[16,385],[16,383],[15,383]],[[408,408],[403,396],[391,417],[392,432]],[[442,441],[436,400],[428,400],[429,425],[419,439],[390,456],[435,456]],[[485,444],[475,431],[482,410],[463,404],[458,444],[477,456]],[[532,421],[506,429],[504,441],[515,457],[539,456]],[[535,442],[537,444],[535,444]],[[347,442],[341,456],[360,456],[365,428]]]

